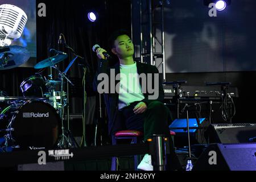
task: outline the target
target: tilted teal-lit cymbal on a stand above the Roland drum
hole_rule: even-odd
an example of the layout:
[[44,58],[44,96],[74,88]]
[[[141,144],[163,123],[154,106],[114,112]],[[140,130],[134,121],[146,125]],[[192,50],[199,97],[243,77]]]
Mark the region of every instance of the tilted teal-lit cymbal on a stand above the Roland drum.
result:
[[53,57],[49,57],[43,61],[40,61],[38,64],[35,65],[35,69],[42,69],[47,67],[52,67],[57,63],[60,63],[64,59],[66,59],[68,55],[56,55]]

